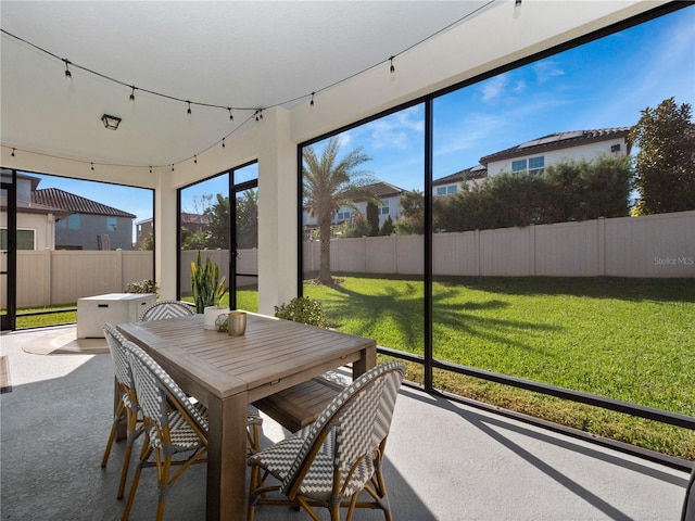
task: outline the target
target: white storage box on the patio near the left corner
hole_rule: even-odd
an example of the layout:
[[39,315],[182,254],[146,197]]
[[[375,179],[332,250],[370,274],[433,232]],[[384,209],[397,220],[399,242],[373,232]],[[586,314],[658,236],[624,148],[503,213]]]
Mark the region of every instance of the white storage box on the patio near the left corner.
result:
[[114,326],[137,322],[142,312],[156,302],[154,293],[109,293],[77,298],[77,338],[104,336],[104,322]]

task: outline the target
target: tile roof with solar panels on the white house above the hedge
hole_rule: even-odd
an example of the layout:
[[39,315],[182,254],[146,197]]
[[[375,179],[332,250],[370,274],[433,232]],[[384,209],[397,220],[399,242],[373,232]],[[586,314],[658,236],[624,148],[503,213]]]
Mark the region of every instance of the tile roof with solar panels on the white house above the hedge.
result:
[[492,161],[506,160],[520,155],[535,154],[551,150],[567,149],[584,143],[593,143],[597,141],[607,141],[615,138],[627,138],[631,127],[598,128],[595,130],[571,130],[565,132],[555,132],[543,136],[542,138],[532,139],[516,147],[494,152],[480,158],[480,163],[486,165]]

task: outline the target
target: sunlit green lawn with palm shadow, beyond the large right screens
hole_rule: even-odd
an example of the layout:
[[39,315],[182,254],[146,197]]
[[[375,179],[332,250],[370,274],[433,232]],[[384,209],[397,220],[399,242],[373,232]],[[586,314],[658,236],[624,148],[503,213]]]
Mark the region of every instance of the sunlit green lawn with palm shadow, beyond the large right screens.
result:
[[[342,277],[305,285],[329,322],[422,353],[422,282]],[[695,279],[442,278],[437,358],[695,416]],[[408,378],[421,381],[416,365]],[[505,385],[435,372],[435,385],[667,454],[695,459],[695,433]]]

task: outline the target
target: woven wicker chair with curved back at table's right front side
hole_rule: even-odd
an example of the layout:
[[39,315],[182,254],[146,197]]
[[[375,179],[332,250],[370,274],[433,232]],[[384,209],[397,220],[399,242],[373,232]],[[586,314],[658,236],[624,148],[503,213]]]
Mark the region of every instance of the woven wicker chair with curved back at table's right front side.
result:
[[[332,521],[343,507],[348,521],[355,508],[378,508],[391,521],[381,465],[404,374],[400,361],[370,369],[313,424],[252,455],[249,521],[258,505],[303,508],[316,521],[314,507],[327,508]],[[266,484],[269,478],[279,484]],[[362,491],[368,500],[358,500]]]

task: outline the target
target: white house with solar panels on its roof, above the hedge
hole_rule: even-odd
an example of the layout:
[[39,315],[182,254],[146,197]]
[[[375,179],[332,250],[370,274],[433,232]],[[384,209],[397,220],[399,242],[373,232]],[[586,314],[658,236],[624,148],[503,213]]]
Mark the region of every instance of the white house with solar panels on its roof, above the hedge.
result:
[[[432,195],[448,195],[466,181],[496,176],[502,171],[511,174],[543,174],[549,165],[567,160],[592,161],[597,156],[629,155],[628,134],[631,127],[601,128],[555,132],[533,139],[509,149],[501,150],[480,158],[480,165],[462,170],[432,182]],[[481,173],[483,173],[480,175]],[[480,175],[480,177],[478,177]],[[456,188],[454,182],[458,176]]]

